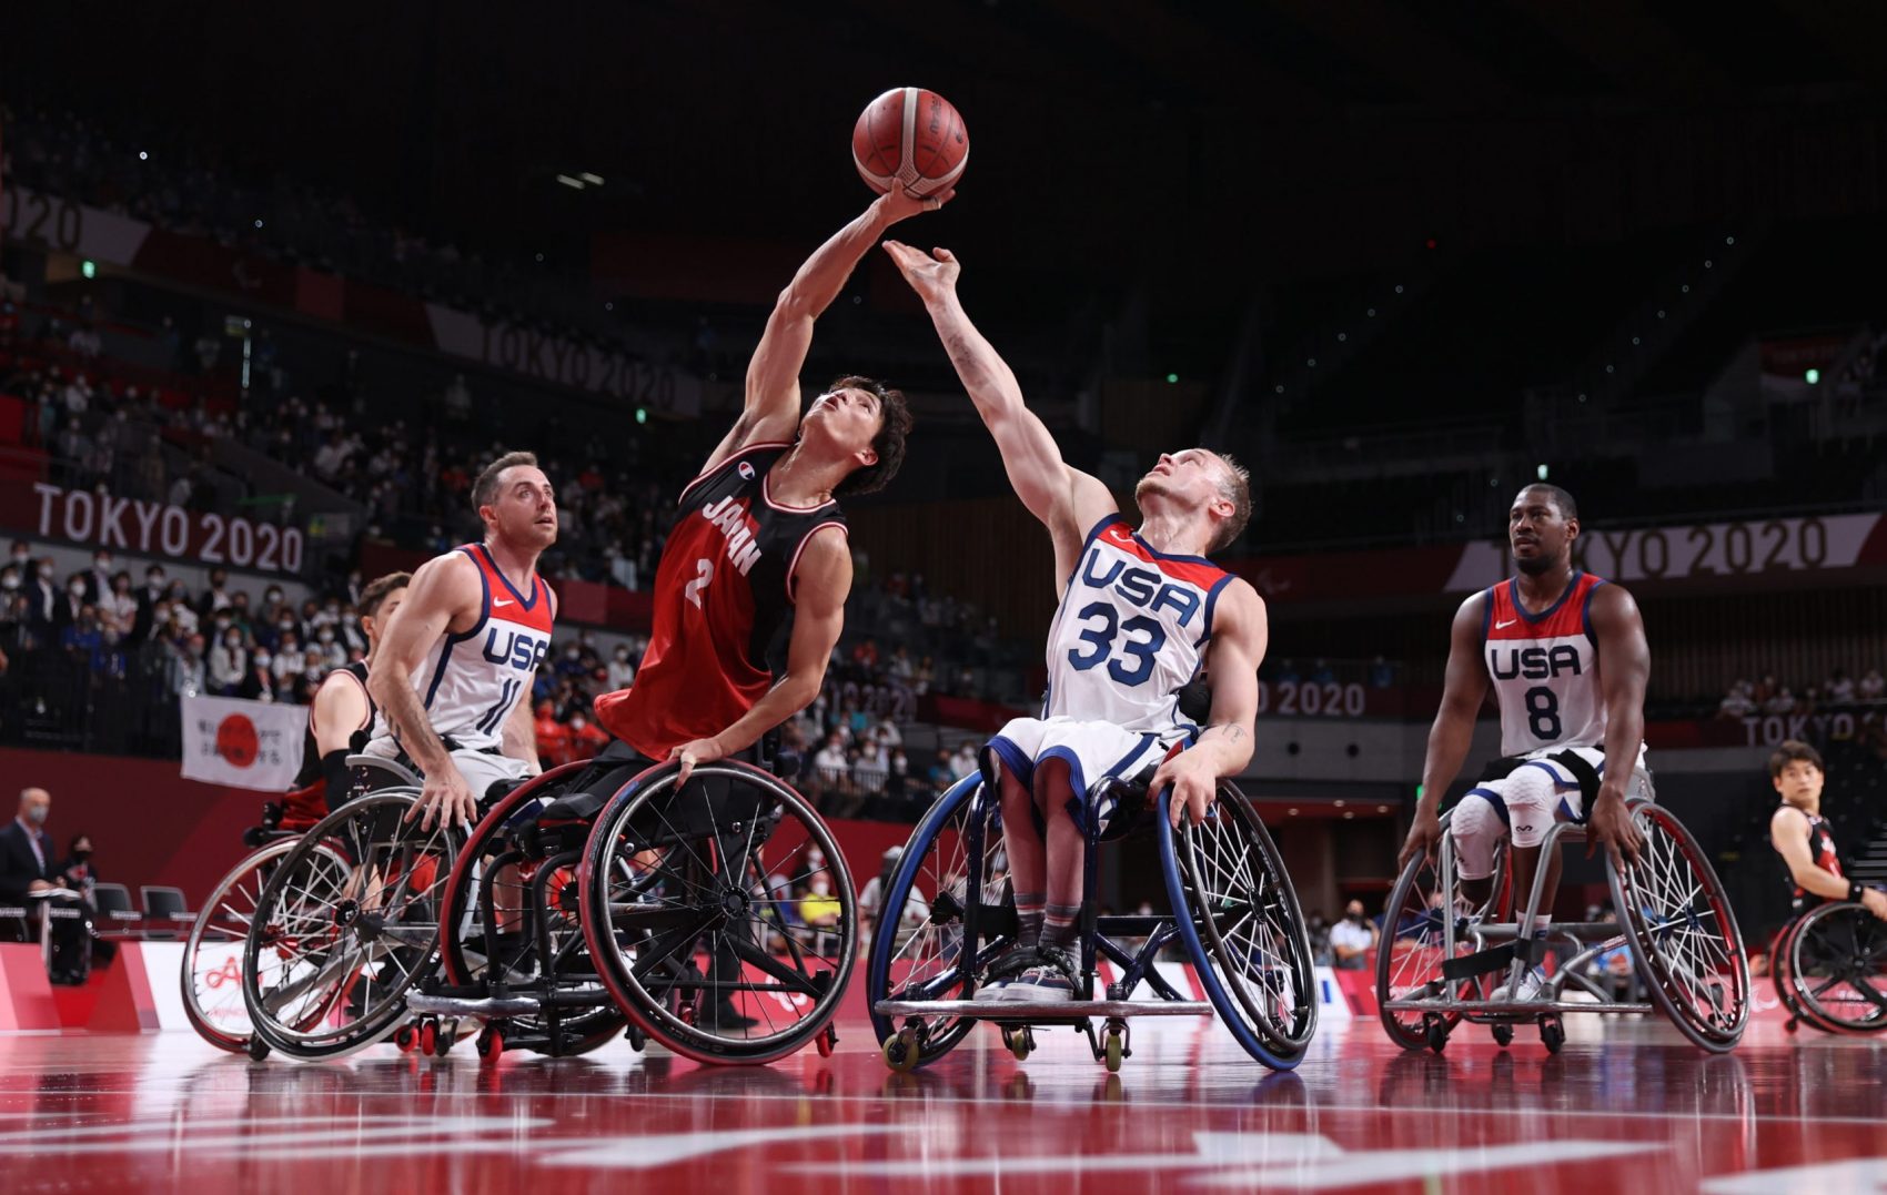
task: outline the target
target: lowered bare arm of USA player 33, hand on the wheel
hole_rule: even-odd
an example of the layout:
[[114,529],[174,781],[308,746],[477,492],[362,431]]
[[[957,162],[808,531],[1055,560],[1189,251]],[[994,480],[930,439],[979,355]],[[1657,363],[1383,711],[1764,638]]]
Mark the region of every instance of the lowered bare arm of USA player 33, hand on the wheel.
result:
[[1166,816],[1174,826],[1189,816],[1206,820],[1219,780],[1251,763],[1251,735],[1259,720],[1259,665],[1270,628],[1264,599],[1249,582],[1234,579],[1219,594],[1211,620],[1211,720],[1198,743],[1161,763],[1149,794],[1174,790]]

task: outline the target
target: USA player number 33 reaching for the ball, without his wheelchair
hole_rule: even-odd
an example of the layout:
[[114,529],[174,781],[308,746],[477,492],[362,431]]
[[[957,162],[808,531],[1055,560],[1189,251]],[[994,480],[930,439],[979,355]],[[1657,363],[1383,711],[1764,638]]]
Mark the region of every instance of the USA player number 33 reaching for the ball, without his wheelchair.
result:
[[[1264,658],[1264,601],[1245,581],[1206,560],[1251,516],[1234,462],[1187,449],[1162,454],[1140,479],[1140,528],[1121,516],[1100,479],[1068,467],[1055,437],[1023,403],[1015,375],[970,324],[957,298],[957,258],[887,241],[925,300],[957,375],[989,426],[1010,484],[1055,541],[1060,609],[1049,631],[1049,694],[1042,718],[1017,718],[985,750],[1002,792],[1004,848],[1021,918],[1019,978],[977,999],[1062,1001],[1072,995],[1068,946],[1081,905],[1085,833],[1070,807],[1108,775],[1134,775],[1170,746],[1151,792],[1172,790],[1170,816],[1204,820],[1223,777],[1251,761]],[[1211,716],[1200,729],[1179,712],[1177,690],[1208,665]]]

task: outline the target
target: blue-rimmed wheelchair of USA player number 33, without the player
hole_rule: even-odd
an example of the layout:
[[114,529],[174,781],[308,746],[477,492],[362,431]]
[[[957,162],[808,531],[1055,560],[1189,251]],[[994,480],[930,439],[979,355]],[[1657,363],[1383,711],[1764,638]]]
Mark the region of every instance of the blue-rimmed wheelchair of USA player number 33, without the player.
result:
[[[1168,794],[1147,810],[1153,769],[1102,778],[1083,794],[1085,897],[1079,914],[1076,995],[1057,1005],[977,1003],[976,990],[1013,944],[1017,914],[1002,875],[1000,794],[964,777],[917,824],[879,905],[866,997],[885,1063],[915,1071],[949,1054],[977,1022],[1027,1059],[1036,1027],[1072,1027],[1094,1059],[1117,1072],[1132,1057],[1138,1016],[1217,1016],[1261,1063],[1289,1071],[1317,1027],[1317,986],[1308,927],[1283,858],[1251,803],[1230,782],[1200,826],[1166,820]],[[1108,807],[1111,818],[1100,814]],[[1102,841],[1136,829],[1157,835],[1172,914],[1100,916],[1093,892]],[[1138,946],[1130,941],[1140,939]],[[1206,1001],[1189,1001],[1157,969],[1177,944]],[[1108,982],[1102,963],[1117,969]],[[1153,999],[1134,999],[1145,986]],[[1096,999],[1096,991],[1100,999]],[[1100,1022],[1100,1029],[1096,1029]]]

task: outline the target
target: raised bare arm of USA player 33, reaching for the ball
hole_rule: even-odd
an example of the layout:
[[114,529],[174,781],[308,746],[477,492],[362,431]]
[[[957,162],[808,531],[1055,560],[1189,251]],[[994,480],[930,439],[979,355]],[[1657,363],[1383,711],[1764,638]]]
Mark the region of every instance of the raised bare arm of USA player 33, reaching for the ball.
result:
[[949,249],[938,249],[932,256],[898,241],[885,241],[885,253],[925,300],[957,377],[996,439],[1015,496],[1055,539],[1055,590],[1060,592],[1081,556],[1081,539],[1096,522],[1119,511],[1119,503],[1098,477],[1062,460],[1047,426],[1023,401],[1023,386],[1008,362],[970,322],[957,296],[957,275],[962,270],[957,256]]

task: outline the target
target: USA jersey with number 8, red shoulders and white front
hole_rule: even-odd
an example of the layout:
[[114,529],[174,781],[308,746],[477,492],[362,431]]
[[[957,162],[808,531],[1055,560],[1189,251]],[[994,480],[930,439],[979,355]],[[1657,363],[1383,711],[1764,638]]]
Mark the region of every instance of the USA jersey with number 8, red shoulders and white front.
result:
[[1521,605],[1515,579],[1487,590],[1481,663],[1500,705],[1500,754],[1604,746],[1606,697],[1593,633],[1593,594],[1602,584],[1574,571],[1559,601],[1538,614]]

